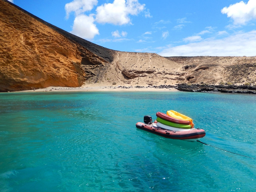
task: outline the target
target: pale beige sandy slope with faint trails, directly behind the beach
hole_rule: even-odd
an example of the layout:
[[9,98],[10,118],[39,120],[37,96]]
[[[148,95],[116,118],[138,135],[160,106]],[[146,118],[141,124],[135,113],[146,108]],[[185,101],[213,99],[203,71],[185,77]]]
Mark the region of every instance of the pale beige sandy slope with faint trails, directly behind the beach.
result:
[[[155,53],[115,51],[114,60],[108,63],[97,77],[86,84],[100,85],[161,85],[184,80],[187,72],[182,65]],[[96,82],[96,83],[95,83]]]

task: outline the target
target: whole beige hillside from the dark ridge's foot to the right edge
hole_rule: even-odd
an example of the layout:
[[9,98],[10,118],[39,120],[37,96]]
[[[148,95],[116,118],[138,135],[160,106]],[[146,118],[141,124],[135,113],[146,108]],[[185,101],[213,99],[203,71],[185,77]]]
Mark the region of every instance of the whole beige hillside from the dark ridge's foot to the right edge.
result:
[[154,53],[115,51],[113,62],[86,84],[173,85],[177,83],[251,83],[256,57],[162,57]]

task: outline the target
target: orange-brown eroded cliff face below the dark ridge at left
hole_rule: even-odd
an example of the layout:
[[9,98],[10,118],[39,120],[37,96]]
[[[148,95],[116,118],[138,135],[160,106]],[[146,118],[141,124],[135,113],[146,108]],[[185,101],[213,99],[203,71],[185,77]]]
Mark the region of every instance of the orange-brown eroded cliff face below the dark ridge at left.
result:
[[2,92],[78,87],[107,62],[3,0],[0,47]]

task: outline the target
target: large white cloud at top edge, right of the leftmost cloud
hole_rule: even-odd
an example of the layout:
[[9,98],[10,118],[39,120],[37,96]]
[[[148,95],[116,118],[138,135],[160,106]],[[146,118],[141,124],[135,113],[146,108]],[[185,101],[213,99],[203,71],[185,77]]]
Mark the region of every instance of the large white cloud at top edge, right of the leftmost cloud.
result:
[[96,21],[114,25],[131,24],[129,15],[138,15],[144,8],[145,4],[140,4],[138,0],[114,0],[97,7]]

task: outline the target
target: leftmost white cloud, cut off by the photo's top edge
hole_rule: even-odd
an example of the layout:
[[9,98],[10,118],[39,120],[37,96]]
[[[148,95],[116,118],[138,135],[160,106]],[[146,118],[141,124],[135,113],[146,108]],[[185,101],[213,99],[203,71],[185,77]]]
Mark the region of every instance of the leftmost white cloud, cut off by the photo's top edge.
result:
[[97,5],[97,0],[74,0],[65,5],[66,18],[69,17],[71,12],[75,12],[76,16],[92,10],[94,5]]

